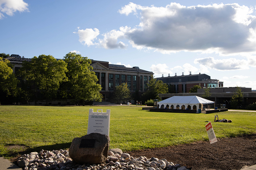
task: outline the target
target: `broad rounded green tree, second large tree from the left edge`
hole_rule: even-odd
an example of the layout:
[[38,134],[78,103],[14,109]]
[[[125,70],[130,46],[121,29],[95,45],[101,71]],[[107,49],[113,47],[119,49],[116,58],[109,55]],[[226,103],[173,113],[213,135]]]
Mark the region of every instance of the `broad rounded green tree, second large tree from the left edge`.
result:
[[38,88],[44,94],[46,105],[49,99],[56,96],[60,83],[67,81],[67,64],[63,60],[57,61],[51,55],[34,57],[31,62],[22,63],[22,66],[20,75],[29,85],[35,85],[35,89]]

